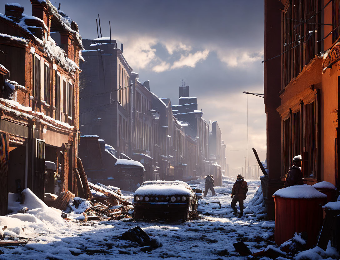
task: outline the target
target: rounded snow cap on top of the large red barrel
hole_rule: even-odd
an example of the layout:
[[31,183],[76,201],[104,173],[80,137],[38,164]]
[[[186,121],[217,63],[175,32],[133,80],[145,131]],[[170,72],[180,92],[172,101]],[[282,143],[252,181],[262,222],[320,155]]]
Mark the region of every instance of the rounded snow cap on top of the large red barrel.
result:
[[321,193],[316,188],[304,184],[290,186],[284,189],[279,189],[273,196],[278,196],[282,198],[326,198],[327,195]]

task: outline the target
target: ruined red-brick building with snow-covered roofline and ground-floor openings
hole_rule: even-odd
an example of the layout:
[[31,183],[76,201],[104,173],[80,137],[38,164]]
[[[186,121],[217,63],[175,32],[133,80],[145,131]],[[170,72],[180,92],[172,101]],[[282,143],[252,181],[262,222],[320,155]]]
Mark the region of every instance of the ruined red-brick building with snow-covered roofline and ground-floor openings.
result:
[[[8,192],[77,194],[78,25],[50,1],[0,14],[0,210]],[[10,54],[10,55],[9,55]]]

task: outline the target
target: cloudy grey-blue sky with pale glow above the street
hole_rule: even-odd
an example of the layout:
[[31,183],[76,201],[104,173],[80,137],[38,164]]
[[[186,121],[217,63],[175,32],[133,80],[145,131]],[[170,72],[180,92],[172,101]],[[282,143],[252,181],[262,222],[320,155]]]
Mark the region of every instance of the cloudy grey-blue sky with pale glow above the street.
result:
[[[4,5],[0,1],[0,13]],[[16,0],[31,15],[29,0]],[[53,3],[53,2],[52,2]],[[55,3],[58,6],[59,2]],[[178,104],[182,79],[198,98],[204,119],[217,120],[227,145],[230,172],[239,173],[247,157],[246,95],[263,93],[263,0],[68,0],[61,10],[79,25],[83,38],[102,35],[124,44],[123,55],[140,81],[150,80],[158,97]],[[266,150],[263,99],[248,97],[249,148]],[[231,151],[243,150],[243,151]],[[258,152],[260,159],[265,152]],[[250,165],[255,164],[249,150]]]

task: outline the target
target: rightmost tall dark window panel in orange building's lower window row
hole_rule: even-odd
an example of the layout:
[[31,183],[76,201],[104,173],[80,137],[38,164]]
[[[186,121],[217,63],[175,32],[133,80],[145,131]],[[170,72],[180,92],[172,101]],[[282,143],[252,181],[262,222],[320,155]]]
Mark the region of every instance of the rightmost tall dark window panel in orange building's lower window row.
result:
[[316,149],[316,101],[306,104],[304,124],[304,152],[308,152],[308,167],[304,171],[309,178],[316,178],[317,149]]

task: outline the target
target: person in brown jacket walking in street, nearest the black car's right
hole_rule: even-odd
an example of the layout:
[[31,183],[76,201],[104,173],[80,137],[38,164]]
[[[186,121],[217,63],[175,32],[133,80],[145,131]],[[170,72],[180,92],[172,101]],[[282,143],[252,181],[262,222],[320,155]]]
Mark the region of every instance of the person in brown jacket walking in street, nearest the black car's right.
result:
[[239,218],[243,216],[243,200],[246,198],[248,192],[248,184],[244,180],[241,174],[237,175],[237,180],[234,183],[232,189],[232,209],[234,210],[234,215],[237,215],[236,203],[240,206]]

